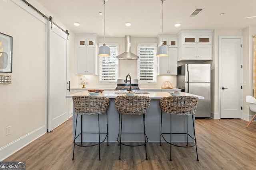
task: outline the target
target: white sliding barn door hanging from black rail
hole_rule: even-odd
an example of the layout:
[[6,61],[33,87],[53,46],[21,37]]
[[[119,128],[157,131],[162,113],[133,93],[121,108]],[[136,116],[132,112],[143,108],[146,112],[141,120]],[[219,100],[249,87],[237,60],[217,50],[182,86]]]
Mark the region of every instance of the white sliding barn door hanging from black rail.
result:
[[48,131],[68,120],[67,34],[49,23]]

